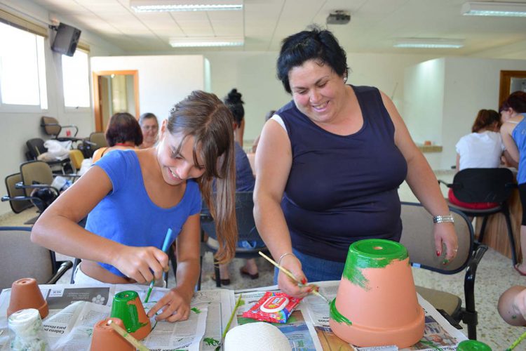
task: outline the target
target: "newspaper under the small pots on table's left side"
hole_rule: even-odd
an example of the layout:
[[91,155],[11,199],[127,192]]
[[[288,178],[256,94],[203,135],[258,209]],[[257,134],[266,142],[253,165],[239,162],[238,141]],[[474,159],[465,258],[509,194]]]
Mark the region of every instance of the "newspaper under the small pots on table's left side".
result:
[[[50,313],[43,320],[52,350],[89,350],[93,325],[109,317],[113,296],[119,291],[137,291],[141,300],[148,286],[142,285],[41,285]],[[168,289],[152,291],[146,310]],[[6,310],[10,289],[0,294],[0,350],[9,350],[13,334],[8,330]],[[142,343],[151,350],[212,350],[219,343],[233,309],[234,293],[227,290],[198,291],[191,301],[187,321],[170,323],[151,319],[151,333]]]

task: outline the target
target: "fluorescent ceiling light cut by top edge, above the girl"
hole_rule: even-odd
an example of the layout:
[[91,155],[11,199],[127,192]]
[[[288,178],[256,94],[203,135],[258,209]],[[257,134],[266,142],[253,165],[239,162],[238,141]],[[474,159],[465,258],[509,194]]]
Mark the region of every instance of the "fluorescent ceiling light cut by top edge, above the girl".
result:
[[243,0],[130,0],[135,12],[241,10]]

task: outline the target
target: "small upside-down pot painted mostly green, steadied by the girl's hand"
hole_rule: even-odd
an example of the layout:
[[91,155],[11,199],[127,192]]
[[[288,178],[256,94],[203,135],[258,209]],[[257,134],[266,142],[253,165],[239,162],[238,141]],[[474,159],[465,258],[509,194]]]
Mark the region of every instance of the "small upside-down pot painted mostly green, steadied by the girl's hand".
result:
[[124,329],[137,340],[142,340],[151,331],[150,319],[136,291],[121,291],[113,298],[110,317],[122,319]]

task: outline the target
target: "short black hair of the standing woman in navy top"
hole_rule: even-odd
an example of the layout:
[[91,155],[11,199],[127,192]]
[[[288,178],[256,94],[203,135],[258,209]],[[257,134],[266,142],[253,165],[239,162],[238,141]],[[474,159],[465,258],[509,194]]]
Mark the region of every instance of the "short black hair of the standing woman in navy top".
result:
[[292,34],[281,42],[277,69],[278,79],[283,83],[285,91],[291,93],[288,81],[290,69],[301,66],[308,60],[329,65],[340,77],[347,77],[347,58],[338,40],[327,29],[311,27],[310,30]]

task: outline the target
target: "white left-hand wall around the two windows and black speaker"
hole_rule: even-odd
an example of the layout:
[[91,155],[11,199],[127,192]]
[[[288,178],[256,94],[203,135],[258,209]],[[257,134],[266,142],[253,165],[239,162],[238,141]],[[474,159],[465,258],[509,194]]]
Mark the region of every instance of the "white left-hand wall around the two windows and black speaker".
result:
[[[46,9],[27,0],[2,0],[0,8],[27,18],[36,24],[47,27],[50,23]],[[60,20],[60,18],[59,18]],[[76,27],[75,23],[67,24]],[[82,29],[79,27],[79,29]],[[31,138],[48,139],[40,127],[42,116],[52,116],[60,124],[75,124],[79,126],[79,136],[87,136],[94,128],[93,112],[86,109],[82,112],[67,111],[62,95],[61,55],[50,49],[50,37],[45,41],[46,81],[48,89],[48,110],[34,113],[20,110],[0,110],[0,177],[3,179],[12,173],[18,173],[19,166],[25,161],[25,142]],[[97,55],[119,54],[120,51],[106,41],[98,39],[93,34],[82,30],[81,41],[90,46],[90,52]],[[0,194],[7,194],[4,185],[0,186]],[[11,211],[7,202],[0,202],[0,213]]]

